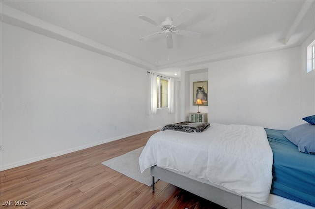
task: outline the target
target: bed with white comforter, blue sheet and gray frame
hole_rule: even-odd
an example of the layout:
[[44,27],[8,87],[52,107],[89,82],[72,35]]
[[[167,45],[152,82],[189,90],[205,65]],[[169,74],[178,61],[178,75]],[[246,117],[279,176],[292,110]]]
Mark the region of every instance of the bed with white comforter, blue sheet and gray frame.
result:
[[[315,205],[314,155],[298,152],[296,146],[283,136],[284,130],[262,128],[265,137],[268,139],[266,140],[268,146],[266,146],[263,137],[261,142],[249,141],[252,138],[260,137],[260,135],[256,136],[250,133],[248,139],[244,142],[245,145],[242,146],[245,146],[244,149],[250,152],[254,150],[255,153],[258,153],[258,156],[252,158],[252,156],[247,157],[244,154],[244,157],[251,158],[250,162],[234,165],[236,161],[234,162],[234,159],[229,157],[235,155],[233,152],[237,151],[229,151],[228,155],[224,154],[221,158],[216,158],[212,154],[209,155],[208,147],[210,144],[213,145],[213,140],[209,142],[207,139],[217,137],[218,143],[222,142],[223,138],[218,136],[222,132],[229,132],[226,131],[229,128],[227,126],[229,125],[212,123],[210,128],[201,133],[183,133],[172,130],[160,131],[149,139],[144,148],[139,158],[140,168],[142,170],[150,168],[153,178],[162,179],[226,208],[313,208],[312,205]],[[243,128],[236,126],[233,131]],[[246,129],[252,130],[253,127],[246,127]],[[258,128],[257,130],[261,134],[261,130]],[[250,131],[245,130],[245,132]],[[223,142],[223,144],[224,149],[227,149],[230,146],[229,144],[232,144],[228,149],[237,150],[235,146],[238,145],[233,145],[230,141]],[[223,150],[216,147],[210,151],[212,153],[218,151],[215,153],[217,155]],[[259,152],[259,150],[262,150],[262,152]],[[236,153],[236,155],[243,155],[243,153]],[[263,159],[261,158],[262,156]],[[301,157],[303,163],[301,163],[299,157]],[[294,158],[294,160],[290,158]],[[225,164],[227,163],[224,162],[225,159],[232,161],[233,166],[229,167],[228,164]],[[224,165],[222,166],[224,167],[223,171],[227,169],[224,172],[230,172],[230,176],[218,175],[218,172],[222,172],[221,168],[218,168],[219,170],[207,170],[209,161],[218,160],[221,165]],[[259,164],[260,160],[263,161],[262,164]],[[170,161],[175,162],[175,164]],[[301,164],[303,164],[302,168]],[[244,172],[238,172],[233,170],[234,167],[236,170],[240,170],[239,168],[243,170],[243,167],[246,167],[246,169]],[[264,171],[260,170],[262,167],[264,167]],[[251,173],[252,170],[254,170],[253,173]],[[245,184],[241,184],[235,179],[228,179],[227,183],[221,183],[220,180],[213,181],[211,179],[213,177],[211,174],[209,175],[209,173],[213,172],[214,176],[222,176],[225,179],[231,176],[234,178],[237,175],[243,178],[246,175],[246,181],[252,177],[255,179],[256,175],[260,175],[260,173],[266,174],[257,177],[256,181],[245,181]],[[237,173],[235,174],[235,172]],[[246,187],[246,184],[250,184],[250,186]],[[239,190],[239,187],[242,187],[243,190]],[[262,190],[258,191],[258,188],[262,188]],[[268,192],[267,194],[266,191]]]

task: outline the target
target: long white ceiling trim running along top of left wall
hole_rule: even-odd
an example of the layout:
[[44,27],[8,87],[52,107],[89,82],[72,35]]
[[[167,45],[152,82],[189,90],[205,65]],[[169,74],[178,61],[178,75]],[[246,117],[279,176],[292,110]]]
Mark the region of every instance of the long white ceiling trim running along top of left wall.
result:
[[156,70],[157,66],[145,62],[141,59],[130,56],[126,53],[117,51],[103,44],[95,42],[91,39],[80,36],[76,33],[55,26],[48,22],[45,22],[32,15],[21,12],[17,9],[11,8],[1,3],[1,22],[18,26],[32,32],[39,33],[44,36],[54,38],[56,40],[63,41],[65,43],[96,52],[146,70]]

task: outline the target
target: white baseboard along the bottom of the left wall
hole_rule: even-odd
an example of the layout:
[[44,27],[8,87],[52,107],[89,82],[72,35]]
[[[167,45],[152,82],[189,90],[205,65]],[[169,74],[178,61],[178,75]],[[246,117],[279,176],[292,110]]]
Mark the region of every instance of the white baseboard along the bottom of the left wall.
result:
[[43,155],[43,156],[39,156],[39,157],[33,157],[33,158],[30,158],[30,159],[21,160],[19,162],[10,163],[10,164],[7,164],[7,165],[0,165],[0,171],[4,171],[4,170],[7,170],[7,169],[11,169],[11,168],[16,168],[16,167],[19,167],[19,166],[22,166],[22,165],[27,165],[27,164],[30,164],[30,163],[33,163],[33,162],[37,162],[37,161],[40,161],[40,160],[48,159],[48,158],[51,158],[51,157],[61,156],[61,155],[64,155],[64,154],[72,153],[72,152],[75,152],[75,151],[83,150],[83,149],[86,149],[86,148],[94,147],[94,146],[105,144],[105,143],[108,143],[108,142],[111,142],[111,141],[116,141],[116,140],[123,139],[123,138],[129,137],[129,136],[137,135],[137,134],[140,134],[140,133],[145,133],[145,132],[148,132],[148,131],[158,130],[158,129],[161,129],[161,127],[147,129],[147,130],[143,130],[143,131],[137,131],[137,132],[133,132],[133,133],[130,133],[130,134],[117,136],[117,137],[114,137],[114,138],[105,139],[105,140],[98,141],[98,142],[95,142],[95,143],[91,143],[91,144],[87,144],[87,145],[83,145],[83,146],[79,146],[79,147],[63,150],[63,151],[60,151],[60,152],[51,153],[51,154],[48,154],[48,155]]

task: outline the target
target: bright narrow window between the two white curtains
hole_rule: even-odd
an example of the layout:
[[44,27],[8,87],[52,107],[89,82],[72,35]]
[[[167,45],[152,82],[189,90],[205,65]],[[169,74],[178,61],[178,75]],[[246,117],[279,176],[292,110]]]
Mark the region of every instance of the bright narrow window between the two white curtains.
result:
[[167,108],[168,107],[168,80],[158,76],[157,88],[158,88],[158,108]]

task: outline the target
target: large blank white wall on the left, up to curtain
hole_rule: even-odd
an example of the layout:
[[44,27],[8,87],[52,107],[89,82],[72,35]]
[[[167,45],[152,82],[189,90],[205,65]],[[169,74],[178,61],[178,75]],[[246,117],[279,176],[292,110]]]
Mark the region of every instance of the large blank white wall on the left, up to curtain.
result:
[[175,122],[146,70],[1,22],[1,170]]

